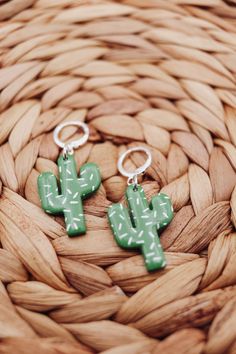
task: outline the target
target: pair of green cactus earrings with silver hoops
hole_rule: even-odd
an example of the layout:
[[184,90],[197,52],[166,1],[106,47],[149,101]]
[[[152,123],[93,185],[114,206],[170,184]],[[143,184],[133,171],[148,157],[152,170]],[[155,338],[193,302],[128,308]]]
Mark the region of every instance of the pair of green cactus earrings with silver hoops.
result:
[[[82,138],[69,144],[59,139],[61,130],[69,125],[82,128]],[[64,214],[66,230],[69,236],[86,233],[82,200],[96,192],[101,184],[99,168],[87,163],[77,176],[74,149],[86,143],[89,137],[88,126],[80,121],[60,124],[54,130],[54,141],[63,149],[58,159],[60,191],[57,179],[50,172],[42,173],[38,178],[38,190],[42,208],[49,214]],[[147,154],[145,164],[134,172],[127,172],[123,162],[128,154],[143,151]],[[158,237],[158,230],[167,226],[173,217],[173,207],[165,194],[154,196],[149,205],[143,188],[138,184],[138,176],[151,165],[151,153],[144,147],[126,151],[118,160],[120,173],[128,177],[126,198],[129,209],[122,204],[113,204],[108,209],[108,219],[118,245],[125,249],[141,249],[147,270],[165,267],[166,261]]]

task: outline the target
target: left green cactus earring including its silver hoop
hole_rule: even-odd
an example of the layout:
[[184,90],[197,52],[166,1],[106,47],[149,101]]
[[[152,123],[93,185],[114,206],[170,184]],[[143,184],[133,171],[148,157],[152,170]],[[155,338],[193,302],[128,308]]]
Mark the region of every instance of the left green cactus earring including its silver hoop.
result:
[[[70,125],[83,129],[82,138],[63,143],[59,139],[60,131]],[[60,190],[57,179],[50,172],[44,172],[38,177],[38,191],[42,208],[49,214],[64,214],[66,230],[69,236],[77,236],[86,232],[82,200],[93,194],[101,184],[99,169],[94,163],[87,163],[80,169],[78,178],[73,149],[83,145],[89,137],[87,124],[71,121],[60,124],[54,130],[55,143],[63,148],[63,155],[58,159]]]

